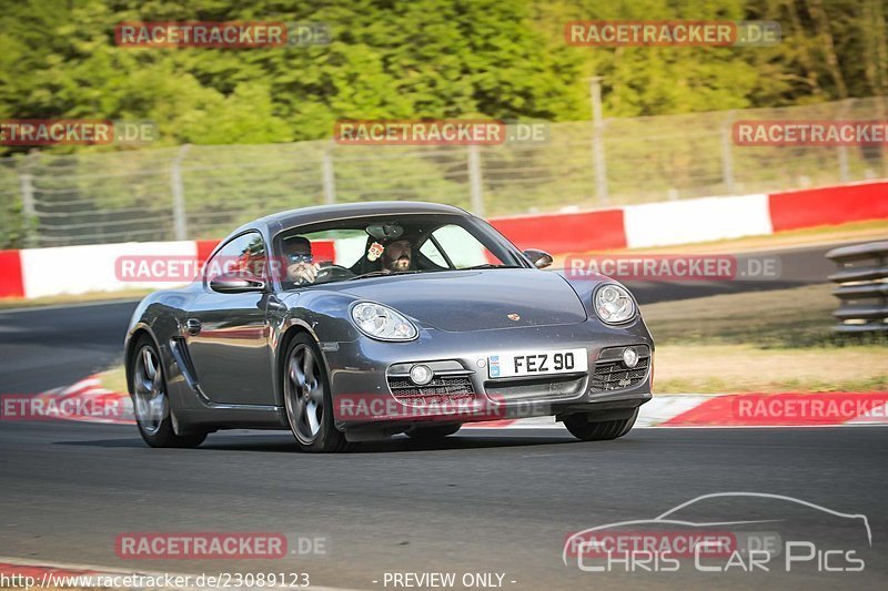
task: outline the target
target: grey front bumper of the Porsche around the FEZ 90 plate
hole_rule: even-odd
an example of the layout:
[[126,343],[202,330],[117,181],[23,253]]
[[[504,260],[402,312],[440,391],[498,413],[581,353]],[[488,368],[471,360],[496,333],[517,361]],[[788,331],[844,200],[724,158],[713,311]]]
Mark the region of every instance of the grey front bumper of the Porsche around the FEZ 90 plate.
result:
[[[598,391],[593,386],[593,373],[602,350],[627,346],[649,349],[646,374],[629,387]],[[381,343],[362,337],[350,343],[322,343],[321,347],[329,368],[335,424],[350,435],[376,431],[387,436],[430,421],[477,422],[573,412],[602,412],[607,417],[650,399],[654,344],[640,317],[620,327],[588,319],[574,325],[472,333],[426,328],[410,343]],[[578,347],[587,349],[588,373],[557,378],[492,379],[487,377],[486,365],[482,366],[487,356],[503,351]],[[414,405],[392,394],[387,377],[392,366],[441,360],[462,366],[461,377],[471,383],[473,396]],[[552,379],[547,385],[548,378]]]

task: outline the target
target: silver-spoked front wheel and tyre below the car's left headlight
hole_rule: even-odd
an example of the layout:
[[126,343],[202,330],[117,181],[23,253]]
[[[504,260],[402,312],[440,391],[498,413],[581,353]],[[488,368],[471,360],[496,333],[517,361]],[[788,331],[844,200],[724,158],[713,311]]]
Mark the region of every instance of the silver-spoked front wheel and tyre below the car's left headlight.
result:
[[[312,358],[309,373],[305,371],[306,356]],[[286,419],[299,447],[313,454],[347,451],[352,446],[333,422],[333,397],[324,358],[317,344],[305,333],[293,337],[287,345],[282,378]],[[313,422],[310,416],[314,417]]]

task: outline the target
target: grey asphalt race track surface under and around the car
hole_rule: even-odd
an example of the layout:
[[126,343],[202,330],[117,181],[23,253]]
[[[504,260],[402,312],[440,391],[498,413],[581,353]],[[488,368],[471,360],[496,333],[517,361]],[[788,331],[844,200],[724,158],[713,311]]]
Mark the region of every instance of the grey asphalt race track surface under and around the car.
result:
[[[780,283],[823,283],[831,269],[825,249],[781,253]],[[771,285],[739,284],[659,284],[637,293],[645,303]],[[114,363],[133,307],[0,313],[0,393],[63,386]],[[133,427],[0,421],[0,557],[194,574],[307,572],[313,585],[352,589],[393,589],[384,585],[386,572],[430,571],[455,572],[457,580],[501,573],[505,589],[884,589],[886,434],[879,427],[658,428],[586,444],[555,429],[464,429],[433,446],[400,437],[314,456],[299,452],[283,431],[220,432],[199,449],[174,450],[149,449]],[[790,573],[598,573],[562,561],[572,532],[652,519],[727,491],[783,495],[866,516],[872,533],[866,568],[824,573],[814,561]],[[719,501],[700,517],[736,518],[731,508]],[[819,512],[804,524],[818,550],[839,539],[840,524]],[[763,528],[794,534],[779,516]],[[323,539],[325,553],[118,558],[119,534],[147,531],[283,532],[291,543]]]

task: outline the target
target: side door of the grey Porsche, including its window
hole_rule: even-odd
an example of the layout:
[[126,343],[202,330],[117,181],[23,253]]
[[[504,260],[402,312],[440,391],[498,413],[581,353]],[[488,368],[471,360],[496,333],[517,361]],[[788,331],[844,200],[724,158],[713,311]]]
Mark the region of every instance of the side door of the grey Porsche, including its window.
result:
[[259,232],[235,236],[205,265],[202,294],[185,318],[195,378],[214,403],[272,405],[270,292],[221,293],[211,287],[214,277],[232,272],[268,285],[268,248]]

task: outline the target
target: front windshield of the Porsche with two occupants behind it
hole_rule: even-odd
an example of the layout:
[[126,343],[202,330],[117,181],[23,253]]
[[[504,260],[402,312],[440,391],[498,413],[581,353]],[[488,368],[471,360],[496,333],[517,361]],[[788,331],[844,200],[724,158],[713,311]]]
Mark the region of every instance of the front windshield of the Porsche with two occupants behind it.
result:
[[527,267],[521,253],[481,220],[411,214],[297,226],[274,238],[284,288],[395,274]]

